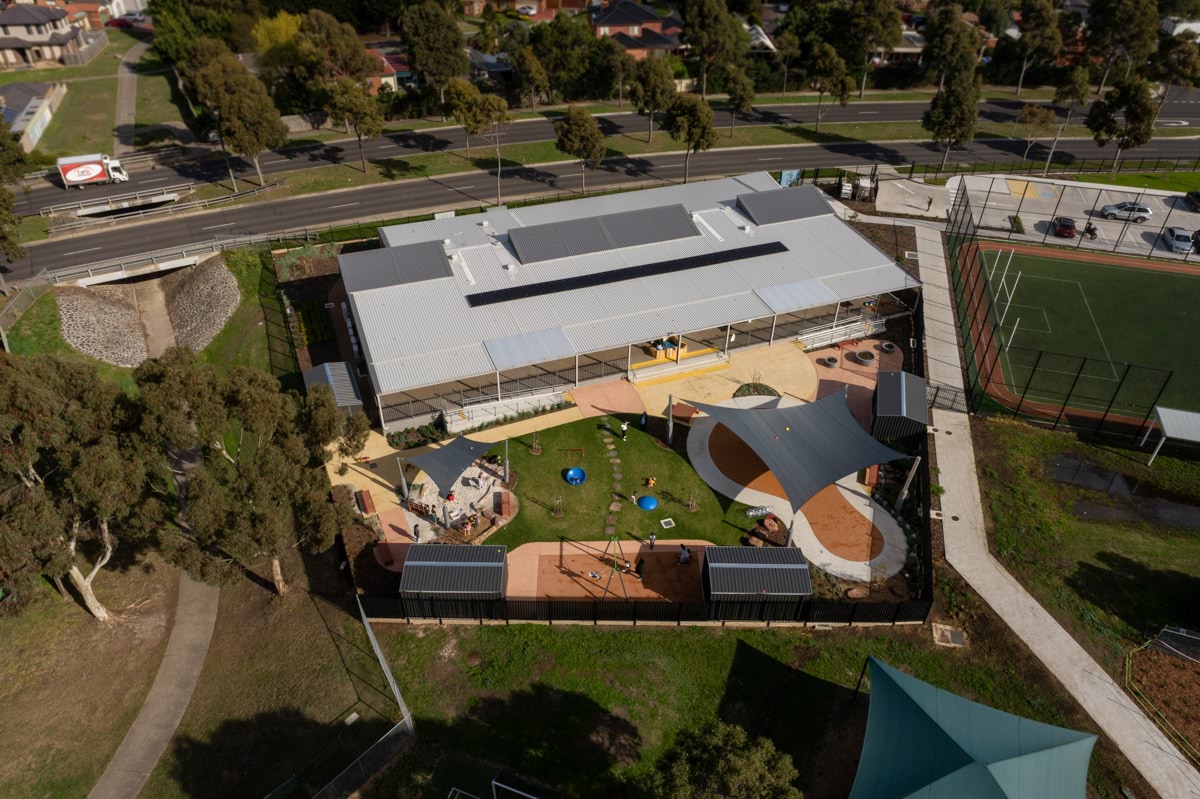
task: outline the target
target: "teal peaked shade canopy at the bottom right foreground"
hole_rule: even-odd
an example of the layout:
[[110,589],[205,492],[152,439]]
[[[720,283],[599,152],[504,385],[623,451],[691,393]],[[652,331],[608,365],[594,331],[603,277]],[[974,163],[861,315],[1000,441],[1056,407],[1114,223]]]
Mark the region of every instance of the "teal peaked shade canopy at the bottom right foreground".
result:
[[850,799],[1084,799],[1096,735],[1022,719],[871,665]]

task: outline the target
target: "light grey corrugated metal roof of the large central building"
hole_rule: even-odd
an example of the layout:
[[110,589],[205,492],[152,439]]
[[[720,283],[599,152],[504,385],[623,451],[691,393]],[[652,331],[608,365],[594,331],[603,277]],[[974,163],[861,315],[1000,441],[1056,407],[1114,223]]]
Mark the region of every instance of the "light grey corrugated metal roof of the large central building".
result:
[[[810,186],[800,191],[818,203],[791,222],[760,226],[739,205],[739,197],[778,190],[770,175],[754,173],[382,228],[390,250],[436,242],[449,275],[403,282],[409,265],[388,250],[340,257],[374,389],[392,394],[494,372],[486,342],[511,340],[505,362],[515,364],[510,344],[523,334],[562,329],[575,353],[594,353],[919,284]],[[522,260],[509,235],[628,211],[650,218],[676,205],[690,224],[666,239],[622,232],[599,251],[534,263]],[[352,288],[358,262],[377,258],[394,265],[395,280]],[[540,362],[539,352],[540,344],[530,349],[527,364]]]

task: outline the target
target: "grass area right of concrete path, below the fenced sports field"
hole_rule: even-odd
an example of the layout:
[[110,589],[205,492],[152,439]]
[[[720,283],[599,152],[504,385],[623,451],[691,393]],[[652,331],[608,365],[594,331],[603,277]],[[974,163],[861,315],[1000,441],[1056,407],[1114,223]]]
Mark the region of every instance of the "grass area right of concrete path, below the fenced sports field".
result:
[[1147,468],[1144,455],[1010,420],[979,420],[974,432],[979,463],[988,464],[980,482],[997,555],[1111,673],[1121,673],[1121,655],[1145,633],[1194,621],[1200,595],[1194,529],[1082,517],[1074,512],[1080,500],[1117,507],[1129,500],[1046,476],[1052,458],[1070,456],[1124,475],[1144,497],[1166,492],[1200,504],[1194,450],[1180,452],[1189,459],[1160,455]]

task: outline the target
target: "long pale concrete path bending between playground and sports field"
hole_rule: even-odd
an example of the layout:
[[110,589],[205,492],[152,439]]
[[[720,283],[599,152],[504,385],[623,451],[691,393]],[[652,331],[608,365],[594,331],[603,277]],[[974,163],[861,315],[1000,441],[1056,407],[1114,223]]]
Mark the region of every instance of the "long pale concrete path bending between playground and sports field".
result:
[[[866,220],[864,220],[866,221]],[[924,288],[930,377],[961,388],[962,362],[954,335],[954,310],[942,233],[917,223]],[[946,559],[1087,711],[1164,799],[1200,797],[1200,774],[1146,717],[1111,677],[991,555],[971,443],[970,417],[932,411],[942,495]]]

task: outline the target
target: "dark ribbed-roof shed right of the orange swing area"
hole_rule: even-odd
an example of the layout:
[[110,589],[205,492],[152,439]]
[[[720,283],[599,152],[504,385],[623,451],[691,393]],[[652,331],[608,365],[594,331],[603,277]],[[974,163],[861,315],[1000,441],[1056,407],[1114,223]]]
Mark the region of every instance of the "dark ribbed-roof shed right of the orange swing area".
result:
[[797,547],[706,547],[704,597],[798,602],[812,594],[809,561]]

